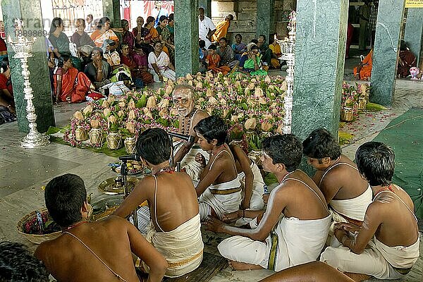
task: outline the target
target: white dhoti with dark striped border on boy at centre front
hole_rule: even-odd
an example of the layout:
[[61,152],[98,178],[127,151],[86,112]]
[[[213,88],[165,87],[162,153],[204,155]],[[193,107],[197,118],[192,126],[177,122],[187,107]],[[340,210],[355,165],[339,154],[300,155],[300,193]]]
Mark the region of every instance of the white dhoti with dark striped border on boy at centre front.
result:
[[237,235],[217,247],[227,259],[281,271],[315,261],[326,242],[330,223],[330,215],[316,220],[283,217],[264,243]]

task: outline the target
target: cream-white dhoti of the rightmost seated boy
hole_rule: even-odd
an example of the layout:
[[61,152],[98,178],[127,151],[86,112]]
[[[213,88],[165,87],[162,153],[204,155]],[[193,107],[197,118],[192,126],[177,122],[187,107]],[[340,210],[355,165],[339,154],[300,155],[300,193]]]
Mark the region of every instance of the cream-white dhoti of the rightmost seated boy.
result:
[[409,247],[389,247],[376,239],[357,255],[348,247],[327,247],[320,261],[342,272],[367,274],[378,279],[398,279],[410,272],[419,258],[419,238]]

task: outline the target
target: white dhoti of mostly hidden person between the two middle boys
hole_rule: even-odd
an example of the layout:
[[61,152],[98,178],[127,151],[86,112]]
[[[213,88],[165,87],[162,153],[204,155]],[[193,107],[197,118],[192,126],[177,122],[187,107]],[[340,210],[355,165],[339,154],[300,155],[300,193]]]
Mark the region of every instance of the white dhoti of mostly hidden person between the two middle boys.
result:
[[[262,173],[260,173],[259,167],[257,166],[257,164],[255,164],[254,161],[251,162],[250,168],[254,179],[252,180],[252,196],[250,200],[250,209],[247,210],[259,211],[264,208],[263,194],[264,186],[266,186],[266,184],[264,183]],[[240,180],[240,183],[245,187],[245,173],[238,173],[238,178]],[[243,193],[243,198],[244,197],[245,195]],[[236,221],[235,226],[243,226],[247,223],[250,223],[250,221],[252,221],[252,219],[241,218]]]

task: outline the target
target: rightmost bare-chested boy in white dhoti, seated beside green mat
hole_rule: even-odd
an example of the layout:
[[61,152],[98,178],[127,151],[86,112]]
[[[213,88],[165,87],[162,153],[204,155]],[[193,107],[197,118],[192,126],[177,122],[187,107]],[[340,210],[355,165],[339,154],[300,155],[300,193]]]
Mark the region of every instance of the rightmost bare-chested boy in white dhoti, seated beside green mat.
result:
[[410,196],[391,183],[395,154],[384,143],[367,142],[357,149],[355,160],[358,171],[372,187],[373,202],[361,227],[336,225],[335,235],[343,246],[327,247],[320,260],[355,281],[369,276],[401,278],[419,257],[419,229]]

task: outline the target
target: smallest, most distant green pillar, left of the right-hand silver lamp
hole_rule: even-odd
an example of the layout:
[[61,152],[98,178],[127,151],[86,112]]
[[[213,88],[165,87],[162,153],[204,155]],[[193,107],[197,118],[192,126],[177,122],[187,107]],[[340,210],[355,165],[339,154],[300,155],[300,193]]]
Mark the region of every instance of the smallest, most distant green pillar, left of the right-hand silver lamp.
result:
[[274,32],[274,0],[257,1],[257,30],[256,38],[265,35],[269,40],[269,35]]

